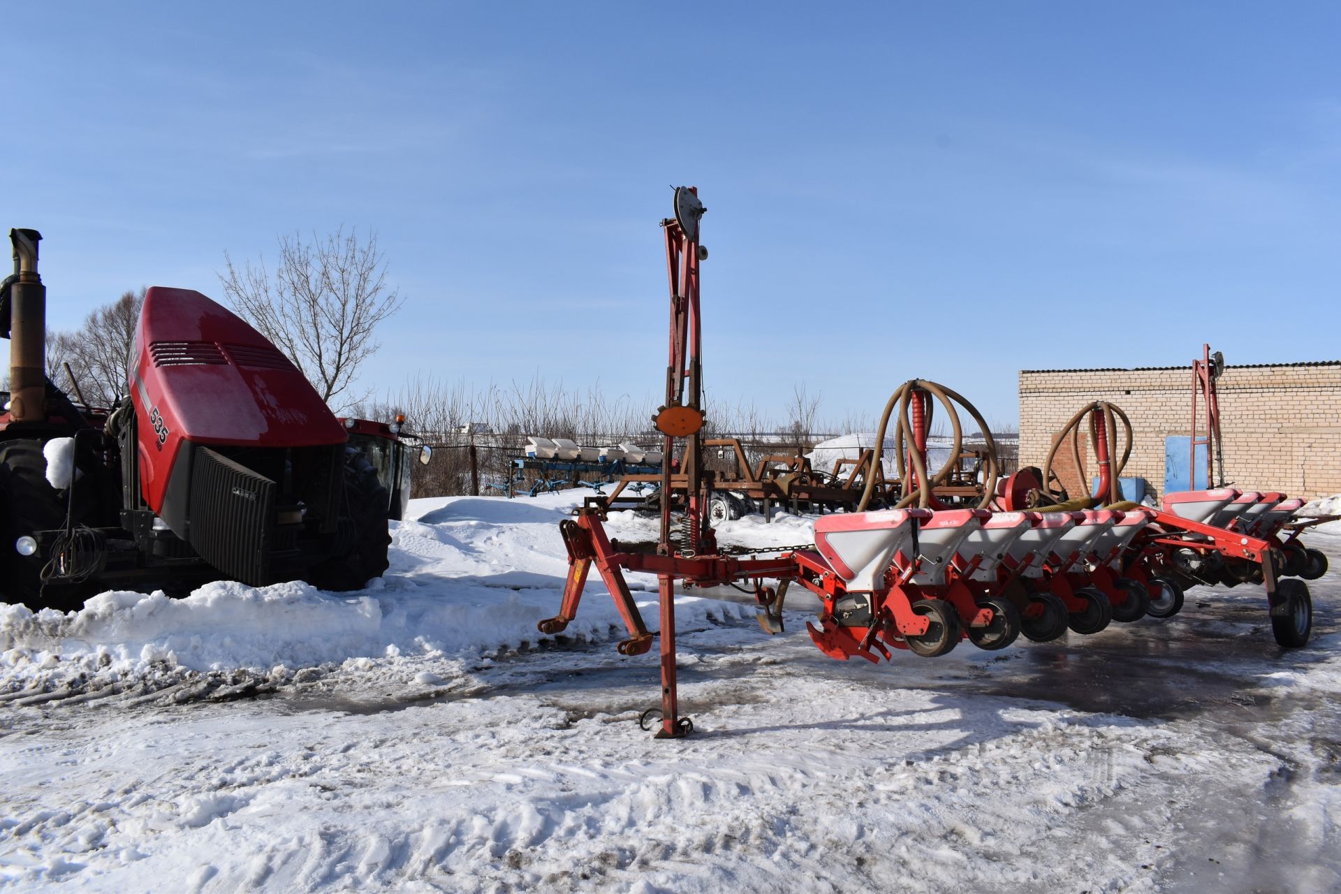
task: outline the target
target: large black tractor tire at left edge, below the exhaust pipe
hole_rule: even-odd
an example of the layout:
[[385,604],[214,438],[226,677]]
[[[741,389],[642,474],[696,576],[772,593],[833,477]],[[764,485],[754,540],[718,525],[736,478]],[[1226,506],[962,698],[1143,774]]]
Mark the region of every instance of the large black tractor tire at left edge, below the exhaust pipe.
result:
[[[0,441],[0,598],[39,609],[79,609],[83,602],[72,598],[68,587],[48,587],[43,594],[40,555],[21,556],[15,540],[34,531],[66,527],[67,492],[56,491],[47,481],[47,457],[43,441],[13,438]],[[87,485],[75,485],[75,521],[90,512]]]

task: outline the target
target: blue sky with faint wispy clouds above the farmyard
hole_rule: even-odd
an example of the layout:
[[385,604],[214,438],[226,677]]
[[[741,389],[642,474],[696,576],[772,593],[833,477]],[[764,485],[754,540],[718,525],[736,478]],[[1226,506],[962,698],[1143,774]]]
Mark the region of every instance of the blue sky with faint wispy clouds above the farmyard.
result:
[[375,228],[363,385],[661,393],[657,221],[695,184],[717,399],[1336,359],[1336,4],[20,4],[7,227],[51,320]]

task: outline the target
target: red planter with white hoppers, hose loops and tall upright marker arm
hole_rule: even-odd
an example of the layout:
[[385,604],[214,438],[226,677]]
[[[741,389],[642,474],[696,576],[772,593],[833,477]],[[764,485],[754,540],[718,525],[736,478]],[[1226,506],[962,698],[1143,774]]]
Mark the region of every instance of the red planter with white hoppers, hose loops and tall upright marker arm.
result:
[[[579,609],[593,567],[610,591],[628,630],[618,643],[626,655],[660,641],[661,705],[657,737],[679,737],[693,724],[679,713],[676,686],[675,587],[732,586],[754,594],[766,633],[783,631],[789,588],[818,596],[814,643],[833,658],[889,659],[894,649],[944,655],[968,639],[996,650],[1019,635],[1050,641],[1067,630],[1096,634],[1117,621],[1167,618],[1183,607],[1193,583],[1261,583],[1275,639],[1303,646],[1313,622],[1307,584],[1326,571],[1321,552],[1298,543],[1291,520],[1299,500],[1282,493],[1210,488],[1164,496],[1160,508],[1122,499],[1118,476],[1130,452],[1130,424],[1109,403],[1093,403],[1073,417],[1058,448],[1071,445],[1080,466],[1078,432],[1088,429],[1100,476],[1093,492],[1070,495],[1054,487],[1051,464],[1002,474],[995,444],[982,416],[956,391],[924,379],[900,386],[885,406],[869,457],[846,476],[815,476],[802,457],[751,469],[740,445],[704,434],[699,243],[705,208],[693,188],[675,193],[675,216],[661,222],[669,275],[669,343],[665,402],[656,416],[662,434],[660,474],[640,473],[660,495],[660,536],[654,547],[611,541],[603,519],[617,508],[620,489],[591,497],[561,523],[569,575],[559,614],[539,623],[559,634]],[[932,420],[952,426],[948,456],[933,468],[928,450]],[[971,418],[984,440],[966,466],[964,425]],[[884,448],[893,421],[897,476],[884,474]],[[1125,449],[1118,454],[1117,424]],[[676,442],[683,441],[681,450]],[[735,474],[707,468],[704,453],[731,449]],[[789,477],[790,476],[790,477]],[[814,523],[814,546],[776,551],[728,548],[715,528],[724,501],[799,501],[850,509]],[[826,505],[827,504],[827,505]],[[658,579],[660,630],[648,630],[625,580],[629,571]]]

